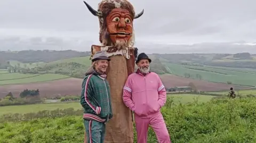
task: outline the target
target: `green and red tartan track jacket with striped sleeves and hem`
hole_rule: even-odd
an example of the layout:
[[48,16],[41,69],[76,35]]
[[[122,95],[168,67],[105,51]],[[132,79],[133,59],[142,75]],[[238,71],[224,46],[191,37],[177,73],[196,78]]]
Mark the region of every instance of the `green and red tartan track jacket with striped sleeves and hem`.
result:
[[113,117],[109,83],[105,74],[95,70],[86,73],[82,83],[83,119],[108,122]]

